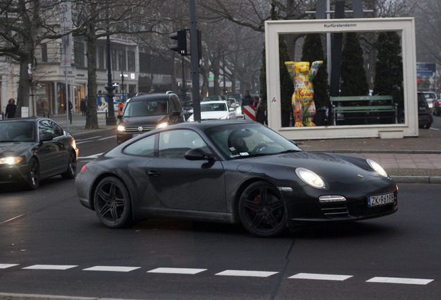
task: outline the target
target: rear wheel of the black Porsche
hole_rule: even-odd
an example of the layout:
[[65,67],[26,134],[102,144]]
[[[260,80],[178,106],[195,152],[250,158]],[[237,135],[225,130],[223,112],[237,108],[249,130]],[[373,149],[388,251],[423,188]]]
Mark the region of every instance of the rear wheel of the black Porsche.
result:
[[130,194],[118,178],[106,177],[98,183],[94,207],[98,219],[109,228],[123,228],[132,224]]

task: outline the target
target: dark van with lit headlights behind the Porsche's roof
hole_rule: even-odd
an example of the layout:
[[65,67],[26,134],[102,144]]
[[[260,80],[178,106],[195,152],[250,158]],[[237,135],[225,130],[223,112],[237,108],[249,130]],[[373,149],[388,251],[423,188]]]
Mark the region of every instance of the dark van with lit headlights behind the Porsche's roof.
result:
[[184,113],[176,94],[142,94],[126,102],[119,124],[116,142],[126,140],[170,124],[184,122]]

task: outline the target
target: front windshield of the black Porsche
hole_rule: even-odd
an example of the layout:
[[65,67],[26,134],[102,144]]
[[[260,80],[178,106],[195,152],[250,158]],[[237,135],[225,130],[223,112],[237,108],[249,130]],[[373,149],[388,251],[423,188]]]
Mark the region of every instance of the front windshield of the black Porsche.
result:
[[205,132],[230,158],[302,151],[290,140],[261,124],[229,124],[208,128]]

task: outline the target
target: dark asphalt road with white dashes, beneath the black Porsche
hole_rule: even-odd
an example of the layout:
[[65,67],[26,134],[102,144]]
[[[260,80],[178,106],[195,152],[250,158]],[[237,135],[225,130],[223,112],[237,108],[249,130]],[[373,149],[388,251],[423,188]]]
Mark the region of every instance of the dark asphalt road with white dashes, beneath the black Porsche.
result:
[[[113,147],[79,135],[78,170]],[[0,190],[0,293],[114,299],[439,299],[441,185],[399,185],[395,215],[253,238],[240,226],[103,227],[74,181]],[[26,298],[20,296],[16,298]],[[10,299],[0,294],[0,299]]]

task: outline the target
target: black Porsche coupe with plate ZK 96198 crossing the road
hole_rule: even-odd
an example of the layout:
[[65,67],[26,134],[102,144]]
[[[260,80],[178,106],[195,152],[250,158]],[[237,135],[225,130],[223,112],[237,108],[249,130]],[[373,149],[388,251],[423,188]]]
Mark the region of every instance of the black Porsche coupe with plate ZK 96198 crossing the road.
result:
[[87,163],[76,190],[110,228],[148,218],[192,219],[240,222],[260,237],[398,209],[397,185],[374,161],[302,151],[244,120],[150,131]]

